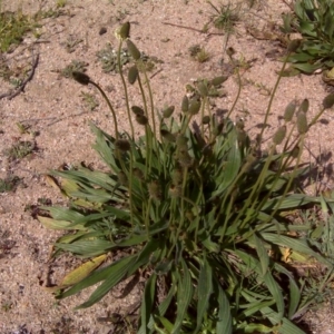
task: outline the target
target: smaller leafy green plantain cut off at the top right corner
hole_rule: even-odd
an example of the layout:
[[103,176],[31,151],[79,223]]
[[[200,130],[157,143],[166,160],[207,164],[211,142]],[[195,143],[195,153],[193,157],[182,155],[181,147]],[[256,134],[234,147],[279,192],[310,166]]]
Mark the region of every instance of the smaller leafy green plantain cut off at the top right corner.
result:
[[301,45],[293,55],[289,73],[313,73],[334,67],[334,2],[332,0],[297,0],[293,13],[283,17],[283,31],[301,35]]

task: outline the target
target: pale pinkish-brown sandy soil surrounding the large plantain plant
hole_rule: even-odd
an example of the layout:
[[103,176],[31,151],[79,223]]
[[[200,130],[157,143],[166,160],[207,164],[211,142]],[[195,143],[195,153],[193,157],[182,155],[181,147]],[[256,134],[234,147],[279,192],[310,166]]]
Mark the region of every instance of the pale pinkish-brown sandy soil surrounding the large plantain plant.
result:
[[[244,89],[233,117],[245,117],[247,128],[254,130],[263,120],[268,102],[266,92],[274,87],[275,71],[281,68],[275,58],[283,50],[278,42],[252,37],[245,30],[245,22],[264,27],[268,21],[279,21],[281,13],[288,10],[283,1],[259,2],[263,4],[242,13],[243,19],[228,41],[228,46],[236,50],[236,59],[250,63],[249,68],[244,69]],[[14,11],[22,4],[23,12],[36,12],[40,3],[46,8],[55,7],[51,0],[4,0],[2,10]],[[200,32],[210,13],[213,10],[205,0],[69,0],[62,16],[42,21],[38,40],[28,35],[12,53],[2,55],[10,67],[29,68],[37,55],[39,62],[22,94],[10,100],[0,99],[0,178],[9,175],[22,178],[14,193],[0,194],[1,333],[114,333],[112,325],[98,322],[99,317],[131,307],[138,301],[140,284],[124,298],[118,297],[124,288],[120,286],[89,310],[72,311],[88,293],[56,303],[43,287],[59,282],[78,262],[61,257],[48,263],[50,245],[60,234],[45,229],[24,208],[37,204],[39,198],[66,204],[60,194],[46,183],[43,175],[49,169],[81,161],[92,163],[95,168],[104,168],[91,149],[94,137],[88,121],[111,131],[112,124],[106,105],[92,88],[78,86],[61,76],[61,70],[72,60],[89,63],[87,72],[109,91],[120,128],[127,129],[119,78],[102,72],[96,53],[108,42],[116,47],[114,31],[120,22],[129,20],[136,45],[146,55],[161,60],[151,72],[156,106],[179,106],[185,85],[191,79],[213,78],[228,70],[222,61],[227,61],[224,33],[212,28],[207,33]],[[106,28],[107,32],[101,33],[101,28]],[[82,41],[72,47],[72,52],[68,52],[73,40]],[[196,43],[210,53],[207,62],[199,63],[190,59],[188,48]],[[10,88],[8,82],[1,81],[0,95]],[[232,106],[237,91],[234,76],[226,81],[225,88],[226,97],[217,100],[217,108]],[[95,110],[89,110],[82,101],[82,91],[98,99],[99,106]],[[325,95],[326,88],[320,76],[284,78],[272,109],[273,128],[278,125],[277,117],[293,99],[308,98],[310,114],[313,116]],[[136,91],[131,91],[131,99],[135,102],[138,99]],[[30,126],[29,131],[38,136],[33,139],[31,134],[21,134],[18,122]],[[332,166],[333,127],[333,116],[328,111],[323,121],[312,129],[307,139],[307,147],[312,150],[311,160],[327,153],[328,159],[324,163]],[[35,140],[37,149],[29,157],[12,160],[6,151],[20,140]],[[325,181],[331,186],[331,179]],[[308,333],[334,333],[333,315],[331,305],[311,313],[307,317]]]

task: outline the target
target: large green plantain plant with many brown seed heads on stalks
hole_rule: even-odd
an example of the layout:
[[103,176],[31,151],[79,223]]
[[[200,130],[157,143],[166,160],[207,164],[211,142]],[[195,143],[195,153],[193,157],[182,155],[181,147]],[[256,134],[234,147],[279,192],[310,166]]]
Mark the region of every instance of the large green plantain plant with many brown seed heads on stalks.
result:
[[[79,84],[101,92],[115,130],[90,125],[109,171],[79,166],[50,173],[69,198],[68,207],[42,207],[39,216],[46,227],[68,230],[55,255],[90,258],[63,277],[57,298],[100,284],[78,306],[89,307],[137,274],[146,277],[137,333],[304,333],[294,322],[307,305],[291,262],[331,264],[303,237],[312,226],[295,225],[287,214],[320,203],[296,190],[310,170],[301,156],[310,127],[334,96],[310,121],[307,100],[289,104],[266,149],[264,130],[253,140],[242,119],[232,120],[235,104],[224,118],[212,110],[224,76],[196,81],[180,107],[156,114],[129,28],[125,23],[116,36],[130,132],[118,130],[104,90],[73,72]],[[132,57],[127,69],[119,61],[124,43]],[[128,85],[138,85],[143,106],[130,104]],[[135,127],[144,136],[135,137]],[[109,262],[114,252],[119,257]]]

